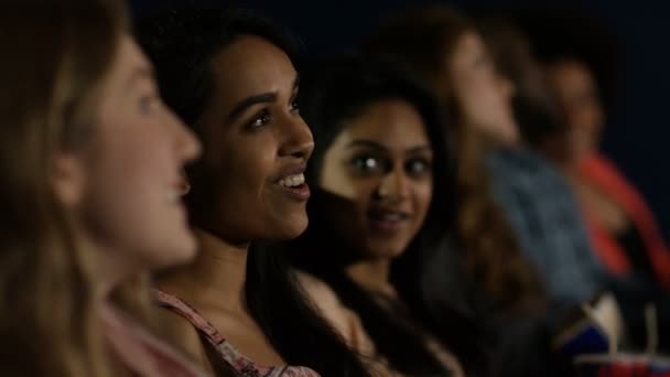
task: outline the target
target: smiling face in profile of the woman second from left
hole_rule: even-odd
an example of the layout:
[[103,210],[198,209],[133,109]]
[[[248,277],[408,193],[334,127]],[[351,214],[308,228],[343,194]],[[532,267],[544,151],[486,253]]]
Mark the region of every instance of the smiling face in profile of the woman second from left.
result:
[[215,89],[202,117],[216,195],[210,230],[240,245],[295,238],[307,227],[303,173],[314,149],[295,104],[298,73],[281,49],[253,35],[221,50],[212,67]]

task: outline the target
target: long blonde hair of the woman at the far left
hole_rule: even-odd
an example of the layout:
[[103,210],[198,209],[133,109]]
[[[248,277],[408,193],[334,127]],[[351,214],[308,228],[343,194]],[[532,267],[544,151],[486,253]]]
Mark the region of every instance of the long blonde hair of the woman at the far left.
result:
[[[116,0],[10,1],[0,10],[0,375],[111,375],[89,252],[55,197],[52,159],[95,131],[126,10]],[[145,290],[126,291],[115,292],[126,306],[145,306]]]

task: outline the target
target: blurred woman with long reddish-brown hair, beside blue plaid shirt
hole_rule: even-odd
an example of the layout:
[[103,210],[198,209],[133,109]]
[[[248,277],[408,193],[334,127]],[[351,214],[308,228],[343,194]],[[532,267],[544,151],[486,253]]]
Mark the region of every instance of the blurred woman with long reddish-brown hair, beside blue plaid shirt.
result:
[[511,83],[496,73],[474,24],[444,7],[406,10],[382,22],[363,50],[404,67],[452,119],[458,203],[453,236],[476,291],[489,295],[485,305],[543,301],[542,284],[489,190],[484,151],[489,140],[511,142],[517,131],[508,108]]

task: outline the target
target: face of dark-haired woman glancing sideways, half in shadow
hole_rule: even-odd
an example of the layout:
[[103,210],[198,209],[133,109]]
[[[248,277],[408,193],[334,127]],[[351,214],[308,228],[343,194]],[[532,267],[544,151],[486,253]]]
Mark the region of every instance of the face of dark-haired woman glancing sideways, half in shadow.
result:
[[324,153],[318,186],[332,198],[323,216],[365,258],[398,257],[428,214],[432,164],[417,109],[403,100],[374,103],[346,121]]

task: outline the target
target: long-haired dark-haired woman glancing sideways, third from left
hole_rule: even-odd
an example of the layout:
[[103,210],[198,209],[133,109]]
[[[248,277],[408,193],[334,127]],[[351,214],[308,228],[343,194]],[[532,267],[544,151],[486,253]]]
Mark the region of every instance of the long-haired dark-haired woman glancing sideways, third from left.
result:
[[[283,248],[360,316],[372,345],[359,351],[389,373],[483,373],[476,331],[445,300],[444,271],[431,269],[446,251],[455,211],[450,149],[433,98],[365,57],[336,57],[310,73],[300,104],[316,142],[306,174],[314,186],[311,224]],[[321,304],[315,280],[303,282]],[[320,308],[339,323],[337,313]],[[346,337],[348,330],[336,327]]]

